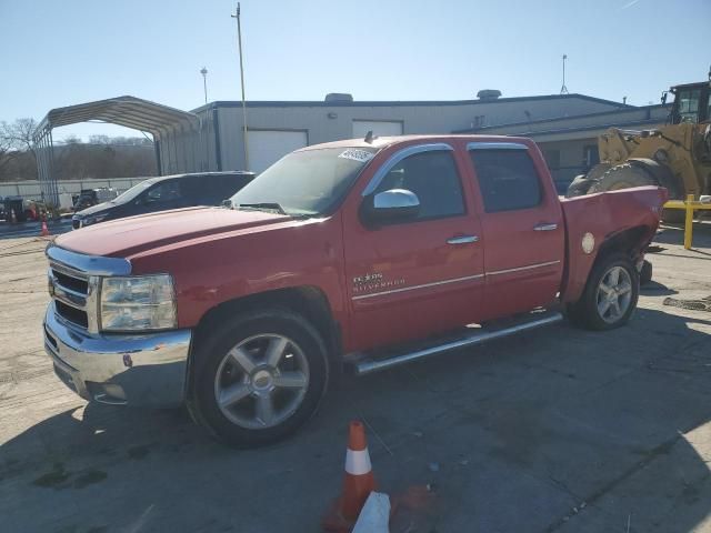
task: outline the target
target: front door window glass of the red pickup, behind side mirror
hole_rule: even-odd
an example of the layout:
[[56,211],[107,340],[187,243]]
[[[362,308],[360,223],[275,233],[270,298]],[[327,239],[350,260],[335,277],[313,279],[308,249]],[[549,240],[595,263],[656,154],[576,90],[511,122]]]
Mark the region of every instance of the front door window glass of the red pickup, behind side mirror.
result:
[[464,213],[461,180],[449,151],[415,153],[403,159],[390,169],[375,193],[390,189],[407,189],[418,195],[417,220]]

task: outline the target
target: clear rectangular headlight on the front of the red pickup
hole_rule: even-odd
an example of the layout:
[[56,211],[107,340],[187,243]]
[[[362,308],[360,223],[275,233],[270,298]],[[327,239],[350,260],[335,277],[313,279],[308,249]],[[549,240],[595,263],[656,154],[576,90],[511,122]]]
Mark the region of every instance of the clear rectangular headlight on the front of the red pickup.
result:
[[101,330],[167,330],[178,325],[173,280],[168,274],[104,278]]

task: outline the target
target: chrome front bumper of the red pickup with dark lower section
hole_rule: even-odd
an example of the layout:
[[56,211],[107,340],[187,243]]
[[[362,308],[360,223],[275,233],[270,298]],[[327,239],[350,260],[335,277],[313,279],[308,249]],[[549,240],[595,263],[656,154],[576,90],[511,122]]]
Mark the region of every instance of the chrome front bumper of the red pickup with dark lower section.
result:
[[101,403],[183,403],[191,336],[191,330],[92,335],[58,318],[53,303],[44,315],[44,349],[54,373],[81,398]]

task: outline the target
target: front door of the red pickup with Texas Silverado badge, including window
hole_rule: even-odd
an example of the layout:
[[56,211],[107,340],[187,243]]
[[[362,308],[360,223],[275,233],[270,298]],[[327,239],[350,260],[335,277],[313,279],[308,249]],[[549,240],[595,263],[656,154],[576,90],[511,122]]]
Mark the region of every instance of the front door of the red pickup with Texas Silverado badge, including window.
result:
[[351,344],[365,350],[474,320],[483,282],[481,227],[451,147],[402,149],[373,179],[370,193],[412,191],[420,211],[375,229],[344,221]]

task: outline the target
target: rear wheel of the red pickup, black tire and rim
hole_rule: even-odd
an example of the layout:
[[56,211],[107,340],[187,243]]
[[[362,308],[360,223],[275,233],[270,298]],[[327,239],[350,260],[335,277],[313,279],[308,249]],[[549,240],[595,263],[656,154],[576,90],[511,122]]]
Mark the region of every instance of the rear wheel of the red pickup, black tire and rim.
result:
[[[614,282],[614,272],[618,282]],[[608,289],[603,289],[602,284]],[[614,293],[610,292],[614,289]],[[605,331],[620,328],[634,312],[639,294],[640,278],[632,262],[622,253],[610,253],[595,262],[582,296],[568,308],[569,318],[575,325],[588,330]],[[604,300],[608,295],[609,304],[605,306]]]

